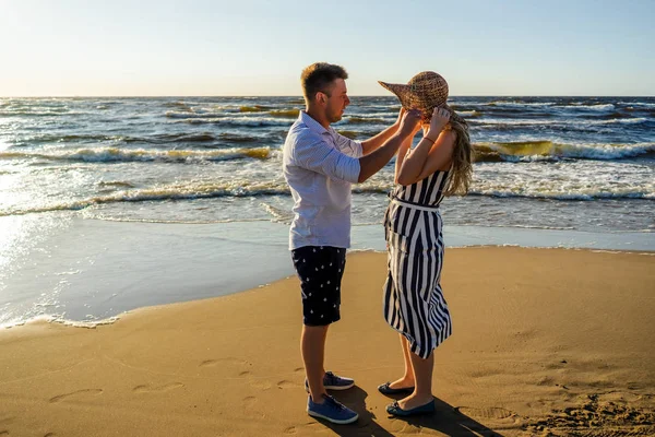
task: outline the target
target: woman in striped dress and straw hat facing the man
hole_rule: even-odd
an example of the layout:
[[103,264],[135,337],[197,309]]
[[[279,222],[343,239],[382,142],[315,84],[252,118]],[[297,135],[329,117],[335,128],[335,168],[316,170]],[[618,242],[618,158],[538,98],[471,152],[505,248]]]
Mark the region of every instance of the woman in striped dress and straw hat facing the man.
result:
[[378,390],[408,394],[386,408],[390,414],[408,416],[434,411],[432,352],[452,332],[440,285],[439,203],[444,196],[468,190],[472,145],[466,121],[445,104],[448,83],[441,75],[427,71],[407,85],[380,84],[398,96],[403,108],[422,114],[422,139],[412,149],[412,135],[398,150],[395,187],[384,217],[389,252],[384,318],[400,332],[405,374]]

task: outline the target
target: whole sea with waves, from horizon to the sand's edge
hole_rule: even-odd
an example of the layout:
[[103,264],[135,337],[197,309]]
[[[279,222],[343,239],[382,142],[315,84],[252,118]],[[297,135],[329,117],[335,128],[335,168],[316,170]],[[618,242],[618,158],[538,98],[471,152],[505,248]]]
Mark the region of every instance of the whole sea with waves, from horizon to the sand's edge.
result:
[[[441,205],[446,245],[655,250],[655,97],[449,104],[475,165],[471,192]],[[301,108],[298,96],[0,98],[0,326],[95,326],[293,274],[282,145]],[[398,109],[353,96],[333,127],[366,140]],[[392,184],[393,161],[353,187],[355,249],[384,249]]]

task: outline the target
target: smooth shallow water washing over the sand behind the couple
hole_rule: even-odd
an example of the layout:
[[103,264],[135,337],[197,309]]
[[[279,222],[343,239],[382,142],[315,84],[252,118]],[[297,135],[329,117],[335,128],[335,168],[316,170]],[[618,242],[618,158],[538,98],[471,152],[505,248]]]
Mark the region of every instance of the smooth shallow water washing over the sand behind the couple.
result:
[[[55,222],[51,227],[48,217]],[[15,235],[23,237],[5,245],[4,257],[0,249],[0,263],[5,263],[0,271],[0,291],[4,291],[0,327],[41,317],[72,324],[106,323],[136,308],[240,293],[295,274],[284,223],[57,217],[11,218]],[[559,247],[655,253],[652,233],[446,225],[444,235],[446,248]],[[354,226],[348,251],[370,250],[385,250],[382,226]]]

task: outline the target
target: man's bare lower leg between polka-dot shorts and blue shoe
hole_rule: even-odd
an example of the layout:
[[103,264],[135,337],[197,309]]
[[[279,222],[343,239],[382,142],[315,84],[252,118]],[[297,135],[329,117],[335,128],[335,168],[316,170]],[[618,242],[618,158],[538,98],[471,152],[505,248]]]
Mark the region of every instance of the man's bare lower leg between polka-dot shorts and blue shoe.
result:
[[329,327],[329,324],[323,327],[302,326],[302,334],[300,336],[305,374],[309,382],[311,399],[315,403],[323,403],[323,394],[327,394],[325,387],[323,387],[323,376],[325,375],[323,362]]

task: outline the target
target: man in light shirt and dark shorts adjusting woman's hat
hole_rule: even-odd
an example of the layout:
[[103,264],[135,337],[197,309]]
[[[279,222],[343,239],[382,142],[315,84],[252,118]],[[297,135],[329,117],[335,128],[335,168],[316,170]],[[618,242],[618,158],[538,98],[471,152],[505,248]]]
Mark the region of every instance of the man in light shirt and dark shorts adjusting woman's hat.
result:
[[393,126],[369,140],[338,134],[330,125],[341,120],[350,104],[346,79],[342,67],[324,62],[302,71],[306,109],[291,126],[283,154],[295,201],[289,249],[301,281],[307,412],[337,424],[358,418],[325,391],[348,389],[354,380],[323,367],[327,327],[341,318],[341,280],[350,246],[350,184],[364,182],[386,165],[420,120],[418,111],[401,110]]

